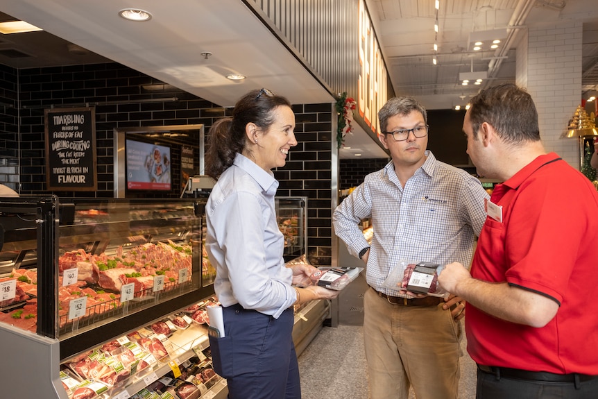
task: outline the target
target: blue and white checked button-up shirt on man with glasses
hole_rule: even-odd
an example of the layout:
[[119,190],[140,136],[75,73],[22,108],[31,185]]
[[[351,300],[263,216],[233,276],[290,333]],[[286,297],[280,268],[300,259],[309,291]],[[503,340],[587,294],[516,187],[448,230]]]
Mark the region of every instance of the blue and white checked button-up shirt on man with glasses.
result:
[[387,295],[402,296],[382,286],[401,260],[469,266],[475,236],[486,221],[484,198],[490,197],[479,180],[436,160],[430,151],[426,155],[404,188],[388,162],[368,174],[332,215],[336,235],[354,256],[369,245],[358,223],[371,218],[366,280]]

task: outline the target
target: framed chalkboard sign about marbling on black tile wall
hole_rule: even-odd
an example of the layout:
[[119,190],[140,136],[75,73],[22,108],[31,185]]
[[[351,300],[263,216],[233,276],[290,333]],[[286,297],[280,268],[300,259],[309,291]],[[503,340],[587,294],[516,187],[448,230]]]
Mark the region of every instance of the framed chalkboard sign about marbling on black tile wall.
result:
[[45,110],[46,182],[49,190],[95,191],[94,108]]

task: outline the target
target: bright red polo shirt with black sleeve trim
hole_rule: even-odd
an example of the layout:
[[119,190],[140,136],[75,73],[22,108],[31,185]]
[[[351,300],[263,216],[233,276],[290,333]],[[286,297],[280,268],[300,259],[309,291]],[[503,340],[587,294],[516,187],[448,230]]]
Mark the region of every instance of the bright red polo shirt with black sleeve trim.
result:
[[598,375],[598,193],[558,155],[541,155],[498,185],[471,273],[536,291],[559,303],[543,328],[496,319],[468,305],[472,359],[487,366]]

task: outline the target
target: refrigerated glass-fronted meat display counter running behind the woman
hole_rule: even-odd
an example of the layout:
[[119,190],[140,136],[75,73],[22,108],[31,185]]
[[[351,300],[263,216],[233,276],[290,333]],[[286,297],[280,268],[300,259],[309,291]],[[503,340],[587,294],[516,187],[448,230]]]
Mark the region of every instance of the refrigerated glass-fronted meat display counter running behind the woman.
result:
[[[285,257],[305,255],[306,201],[277,201]],[[225,398],[203,317],[217,302],[204,207],[203,198],[0,199],[3,395],[126,399],[169,378],[192,390],[186,377],[198,387],[187,398]],[[330,303],[295,310],[300,353]]]

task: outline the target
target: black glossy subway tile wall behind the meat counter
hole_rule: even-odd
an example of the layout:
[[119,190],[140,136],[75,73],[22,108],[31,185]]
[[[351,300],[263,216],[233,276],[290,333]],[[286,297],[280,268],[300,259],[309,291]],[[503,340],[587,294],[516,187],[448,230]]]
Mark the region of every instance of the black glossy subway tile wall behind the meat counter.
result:
[[[51,192],[64,197],[95,198],[114,196],[114,128],[203,124],[207,137],[214,120],[232,114],[231,108],[222,108],[115,62],[1,68],[0,182],[4,176],[2,162],[17,160],[20,171],[15,167],[15,176],[22,183],[22,194],[50,193],[45,175],[44,108],[95,108],[97,191]],[[153,90],[146,90],[145,85],[151,85]],[[144,102],[166,97],[176,101]],[[330,264],[332,103],[293,105],[293,112],[298,146],[289,151],[287,165],[274,171],[280,181],[277,195],[308,197],[308,259],[314,265]],[[20,148],[20,152],[12,148]],[[180,164],[179,154],[171,156],[173,166]],[[170,194],[144,196],[178,197],[180,173],[173,173],[172,180],[177,188]]]

